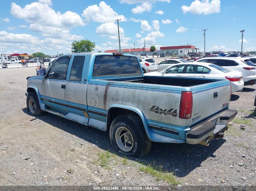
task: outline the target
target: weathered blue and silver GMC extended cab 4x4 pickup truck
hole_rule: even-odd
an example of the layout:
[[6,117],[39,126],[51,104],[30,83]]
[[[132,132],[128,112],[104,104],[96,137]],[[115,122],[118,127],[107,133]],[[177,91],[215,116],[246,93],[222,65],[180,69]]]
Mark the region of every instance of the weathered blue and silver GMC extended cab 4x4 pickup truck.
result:
[[27,80],[29,114],[109,131],[112,146],[135,157],[148,154],[151,141],[208,146],[237,114],[228,109],[228,80],[144,76],[130,54],[62,55]]

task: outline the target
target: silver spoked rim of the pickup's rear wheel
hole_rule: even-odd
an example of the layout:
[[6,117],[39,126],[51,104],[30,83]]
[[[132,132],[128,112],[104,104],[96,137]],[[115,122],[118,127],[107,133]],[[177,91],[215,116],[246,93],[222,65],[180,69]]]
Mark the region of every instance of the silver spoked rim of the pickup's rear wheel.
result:
[[131,132],[125,127],[119,127],[116,130],[115,141],[122,151],[131,151],[133,147],[133,137],[131,135]]

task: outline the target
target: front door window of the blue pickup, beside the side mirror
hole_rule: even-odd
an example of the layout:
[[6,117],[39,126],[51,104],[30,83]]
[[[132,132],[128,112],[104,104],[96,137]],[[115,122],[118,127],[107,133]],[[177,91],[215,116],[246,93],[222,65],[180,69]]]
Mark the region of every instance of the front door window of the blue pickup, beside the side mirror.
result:
[[67,77],[68,64],[71,56],[58,58],[49,69],[48,78],[65,80]]

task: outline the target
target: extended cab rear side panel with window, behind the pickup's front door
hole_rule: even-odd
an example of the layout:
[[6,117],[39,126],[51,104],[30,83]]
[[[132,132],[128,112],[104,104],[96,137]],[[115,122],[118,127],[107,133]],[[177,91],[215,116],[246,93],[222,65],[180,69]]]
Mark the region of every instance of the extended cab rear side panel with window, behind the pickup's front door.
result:
[[84,63],[85,56],[74,56],[66,86],[68,112],[80,116],[85,116],[85,112],[87,112],[86,92],[88,83],[82,77],[86,75],[88,68],[84,68]]

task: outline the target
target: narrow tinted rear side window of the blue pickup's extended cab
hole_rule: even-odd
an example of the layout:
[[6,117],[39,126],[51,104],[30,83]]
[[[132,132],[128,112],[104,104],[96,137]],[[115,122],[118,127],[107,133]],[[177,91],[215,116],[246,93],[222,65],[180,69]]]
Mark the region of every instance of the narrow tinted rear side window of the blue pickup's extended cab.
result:
[[85,56],[75,56],[72,62],[69,80],[81,81]]

